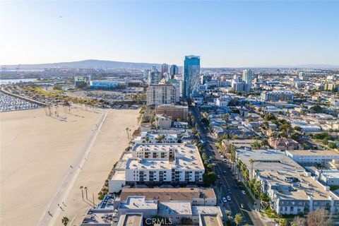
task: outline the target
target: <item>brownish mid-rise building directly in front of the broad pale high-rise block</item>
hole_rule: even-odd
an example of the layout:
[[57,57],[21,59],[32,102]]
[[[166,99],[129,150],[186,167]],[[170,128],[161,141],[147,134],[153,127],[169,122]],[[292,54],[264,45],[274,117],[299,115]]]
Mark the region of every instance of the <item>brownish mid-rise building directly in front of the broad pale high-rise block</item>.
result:
[[155,108],[155,114],[166,114],[169,118],[176,121],[187,121],[189,107],[181,105],[159,105]]

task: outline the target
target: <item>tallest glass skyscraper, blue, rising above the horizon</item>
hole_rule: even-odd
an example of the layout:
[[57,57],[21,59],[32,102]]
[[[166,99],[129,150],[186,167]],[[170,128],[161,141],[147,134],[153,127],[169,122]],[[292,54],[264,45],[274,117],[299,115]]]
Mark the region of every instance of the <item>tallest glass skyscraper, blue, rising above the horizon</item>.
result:
[[184,99],[198,95],[200,83],[200,57],[186,56],[184,60]]

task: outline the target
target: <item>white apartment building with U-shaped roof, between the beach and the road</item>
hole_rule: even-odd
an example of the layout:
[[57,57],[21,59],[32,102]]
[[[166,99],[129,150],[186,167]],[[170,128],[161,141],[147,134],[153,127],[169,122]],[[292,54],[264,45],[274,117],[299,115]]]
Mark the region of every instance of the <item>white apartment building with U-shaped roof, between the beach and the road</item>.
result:
[[201,183],[205,168],[196,145],[136,144],[126,162],[126,184]]

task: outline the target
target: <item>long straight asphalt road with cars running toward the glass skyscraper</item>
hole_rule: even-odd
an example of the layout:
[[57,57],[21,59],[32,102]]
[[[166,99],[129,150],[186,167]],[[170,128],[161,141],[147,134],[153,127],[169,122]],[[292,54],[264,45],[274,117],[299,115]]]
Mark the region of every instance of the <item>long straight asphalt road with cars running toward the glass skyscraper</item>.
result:
[[[206,148],[206,154],[208,156],[213,156],[215,158],[215,173],[220,175],[220,179],[216,183],[217,187],[215,188],[218,204],[222,208],[222,210],[230,210],[232,216],[237,213],[242,213],[243,222],[242,225],[264,225],[255,210],[251,208],[250,201],[246,197],[246,195],[242,194],[241,189],[237,187],[237,180],[232,175],[230,170],[230,165],[226,162],[222,161],[222,157],[218,153],[218,149],[215,146],[215,138],[211,137],[208,134],[208,131],[205,129],[203,124],[200,121],[200,113],[196,109],[196,107],[191,107],[191,112],[193,113],[196,124],[198,125],[198,129],[201,132],[202,140],[204,141],[204,146]],[[224,174],[225,171],[225,174]],[[221,185],[221,194],[220,194],[220,185],[219,182],[222,182]],[[230,191],[228,191],[230,189]],[[231,201],[227,201],[227,203],[222,203],[222,197],[226,197],[229,195],[231,197]],[[244,208],[241,208],[241,204],[244,205]]]

